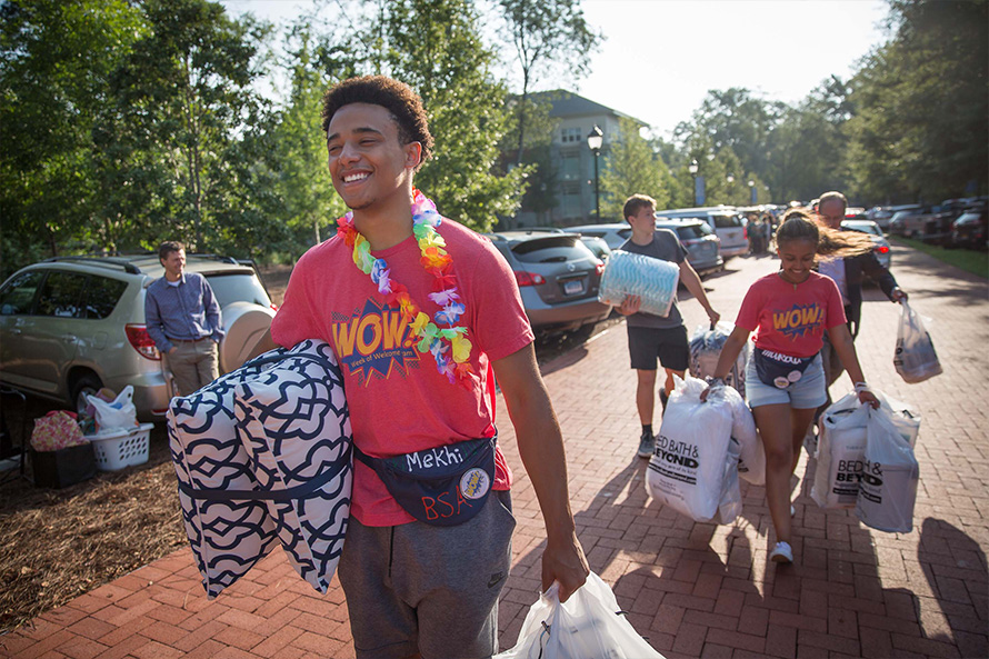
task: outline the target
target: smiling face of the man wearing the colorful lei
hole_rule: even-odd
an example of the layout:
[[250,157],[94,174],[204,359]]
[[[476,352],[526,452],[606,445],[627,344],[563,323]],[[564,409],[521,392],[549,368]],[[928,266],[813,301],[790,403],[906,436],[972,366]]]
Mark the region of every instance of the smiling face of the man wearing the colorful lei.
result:
[[354,211],[408,204],[419,142],[402,144],[398,123],[381,106],[351,103],[333,114],[327,130],[333,188]]

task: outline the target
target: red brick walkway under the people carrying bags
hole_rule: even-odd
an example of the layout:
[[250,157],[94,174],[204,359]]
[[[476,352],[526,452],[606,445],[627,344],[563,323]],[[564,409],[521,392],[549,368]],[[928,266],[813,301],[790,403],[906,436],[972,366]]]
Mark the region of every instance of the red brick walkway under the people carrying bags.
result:
[[[742,483],[730,526],[693,523],[646,493],[635,457],[639,423],[622,326],[545,367],[567,438],[572,507],[591,568],[612,585],[636,629],[667,657],[987,657],[989,296],[985,280],[907,249],[893,271],[932,318],[945,375],[906,385],[893,371],[899,307],[866,290],[857,342],[866,375],[923,415],[921,482],[911,533],[870,530],[809,498],[812,460],[797,475],[796,565],[767,561],[771,533],[762,488]],[[706,281],[733,319],[748,283],[775,261],[736,259]],[[688,328],[702,322],[683,304]],[[847,376],[833,391],[849,388]],[[537,598],[542,521],[508,415],[502,446],[518,482],[515,567],[500,608],[502,647],[515,643]],[[657,426],[659,418],[657,417]],[[347,605],[336,581],[319,596],[276,550],[208,601],[188,549],[49,611],[0,639],[2,657],[352,657]]]

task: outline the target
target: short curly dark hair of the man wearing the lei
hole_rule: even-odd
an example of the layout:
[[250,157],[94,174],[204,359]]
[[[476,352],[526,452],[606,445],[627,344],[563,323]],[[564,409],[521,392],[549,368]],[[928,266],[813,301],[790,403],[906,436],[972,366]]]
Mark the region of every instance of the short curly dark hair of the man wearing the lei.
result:
[[404,82],[386,76],[361,76],[334,84],[322,97],[323,134],[329,130],[330,120],[337,110],[350,103],[370,103],[388,110],[398,124],[399,141],[402,144],[422,144],[419,167],[432,154],[432,134],[429,132],[422,99]]

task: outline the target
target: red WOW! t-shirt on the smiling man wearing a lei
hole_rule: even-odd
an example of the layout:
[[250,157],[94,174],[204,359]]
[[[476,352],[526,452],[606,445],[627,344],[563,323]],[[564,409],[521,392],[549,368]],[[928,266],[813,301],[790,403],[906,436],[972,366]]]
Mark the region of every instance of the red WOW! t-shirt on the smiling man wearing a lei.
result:
[[[460,301],[467,306],[457,324],[467,327],[473,346],[470,363],[476,375],[469,388],[451,385],[437,371],[432,355],[416,349],[398,304],[386,302],[338,237],[299,259],[271,323],[271,338],[281,346],[322,339],[333,347],[343,371],[353,441],[370,456],[391,457],[493,436],[490,361],[533,340],[515,276],[491,242],[451,220],[444,219],[438,231],[453,260]],[[408,287],[424,313],[432,318],[440,310],[428,297],[434,278],[420,264],[413,237],[372,256],[387,260],[391,279]],[[372,469],[356,460],[353,467],[351,513],[361,523],[413,521]],[[511,471],[499,449],[492,487],[506,490],[510,485]]]

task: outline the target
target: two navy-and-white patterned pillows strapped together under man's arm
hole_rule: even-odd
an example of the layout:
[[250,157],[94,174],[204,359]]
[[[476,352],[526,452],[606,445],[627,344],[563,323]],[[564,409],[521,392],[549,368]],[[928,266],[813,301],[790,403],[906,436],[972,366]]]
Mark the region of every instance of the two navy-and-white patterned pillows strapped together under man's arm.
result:
[[324,592],[347,529],[352,439],[329,346],[310,340],[272,350],[172,399],[168,431],[182,519],[209,598],[279,538],[300,575]]

